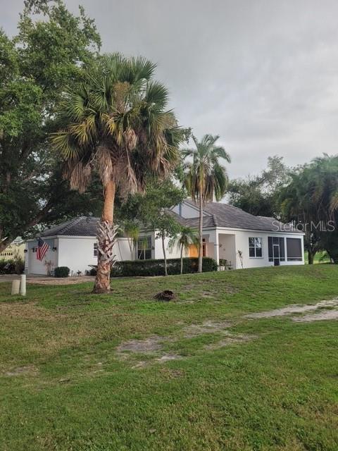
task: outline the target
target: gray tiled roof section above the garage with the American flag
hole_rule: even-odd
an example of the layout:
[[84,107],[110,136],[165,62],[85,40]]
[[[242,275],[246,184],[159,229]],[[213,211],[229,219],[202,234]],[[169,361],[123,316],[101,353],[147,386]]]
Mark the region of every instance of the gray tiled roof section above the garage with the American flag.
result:
[[80,216],[79,218],[71,219],[66,223],[58,224],[58,226],[44,230],[41,233],[41,236],[51,237],[54,235],[68,235],[77,237],[94,237],[96,236],[98,222],[99,218]]

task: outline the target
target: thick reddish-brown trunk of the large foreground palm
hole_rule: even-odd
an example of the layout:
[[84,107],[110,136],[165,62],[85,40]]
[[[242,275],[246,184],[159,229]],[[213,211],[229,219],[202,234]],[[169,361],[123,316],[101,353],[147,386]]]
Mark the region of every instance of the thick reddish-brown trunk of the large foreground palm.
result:
[[109,233],[104,233],[104,228],[111,228],[113,230],[114,217],[114,200],[115,200],[115,182],[112,180],[104,187],[104,211],[102,211],[101,231],[98,235],[99,252],[97,258],[97,272],[95,278],[94,293],[106,293],[111,290],[111,264],[107,259],[107,254],[112,249],[112,237]]

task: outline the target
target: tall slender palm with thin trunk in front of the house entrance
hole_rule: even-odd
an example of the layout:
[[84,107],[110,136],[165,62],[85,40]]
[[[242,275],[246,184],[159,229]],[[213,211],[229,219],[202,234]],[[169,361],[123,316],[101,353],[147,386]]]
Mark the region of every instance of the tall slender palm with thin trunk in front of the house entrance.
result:
[[231,161],[225,149],[215,144],[218,138],[218,135],[204,135],[199,142],[193,136],[196,149],[186,149],[183,153],[188,159],[184,165],[184,184],[194,202],[199,202],[199,273],[202,272],[203,257],[203,208],[206,202],[213,201],[214,196],[217,201],[224,196],[228,179],[219,160]]

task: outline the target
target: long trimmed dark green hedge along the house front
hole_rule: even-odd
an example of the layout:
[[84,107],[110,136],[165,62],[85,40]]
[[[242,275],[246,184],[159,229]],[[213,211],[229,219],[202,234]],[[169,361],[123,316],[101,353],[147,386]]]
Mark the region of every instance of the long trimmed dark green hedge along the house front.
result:
[[[180,259],[168,259],[168,274],[180,274]],[[196,273],[199,266],[199,259],[184,258],[183,273]],[[203,258],[203,272],[217,271],[215,260],[210,257]],[[164,276],[164,260],[130,260],[117,261],[111,270],[112,277],[132,277],[132,276]]]

